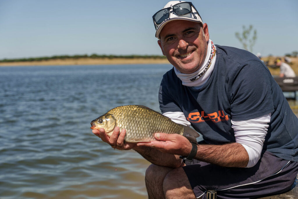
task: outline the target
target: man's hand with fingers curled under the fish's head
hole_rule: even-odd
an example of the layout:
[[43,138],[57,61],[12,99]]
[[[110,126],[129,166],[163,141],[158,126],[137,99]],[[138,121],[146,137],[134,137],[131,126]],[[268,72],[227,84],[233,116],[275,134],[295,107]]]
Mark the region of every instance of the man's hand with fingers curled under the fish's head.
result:
[[105,129],[103,128],[99,130],[97,129],[92,130],[94,135],[101,138],[102,141],[108,143],[114,149],[129,150],[134,148],[136,146],[136,143],[127,143],[124,141],[126,130],[122,129],[120,134],[119,134],[119,131],[120,131],[119,127],[115,127],[111,137],[109,138],[108,135],[105,133]]

